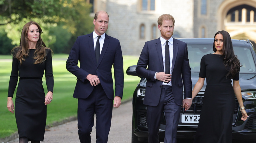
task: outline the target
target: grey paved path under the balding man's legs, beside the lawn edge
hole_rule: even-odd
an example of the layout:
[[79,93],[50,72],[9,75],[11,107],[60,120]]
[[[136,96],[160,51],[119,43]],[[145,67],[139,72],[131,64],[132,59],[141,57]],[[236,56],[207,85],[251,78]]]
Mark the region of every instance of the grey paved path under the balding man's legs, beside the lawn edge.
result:
[[[96,120],[96,118],[95,118]],[[79,143],[77,120],[49,128],[45,131],[42,143]],[[113,108],[112,122],[108,137],[109,143],[130,143],[132,131],[132,102],[122,103],[119,108]],[[92,143],[96,142],[95,125],[91,133]],[[7,143],[18,143],[16,138]]]

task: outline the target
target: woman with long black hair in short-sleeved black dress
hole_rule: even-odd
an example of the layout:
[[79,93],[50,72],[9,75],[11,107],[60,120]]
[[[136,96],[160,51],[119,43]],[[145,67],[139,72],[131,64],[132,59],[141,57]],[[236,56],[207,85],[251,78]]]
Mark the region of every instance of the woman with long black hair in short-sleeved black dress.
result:
[[214,35],[213,51],[213,54],[202,57],[199,80],[192,91],[193,99],[202,89],[206,77],[207,85],[204,92],[203,108],[194,143],[232,142],[234,95],[241,107],[240,111],[243,115],[241,120],[245,121],[248,117],[239,85],[241,65],[237,56],[234,55],[228,32],[218,31]]

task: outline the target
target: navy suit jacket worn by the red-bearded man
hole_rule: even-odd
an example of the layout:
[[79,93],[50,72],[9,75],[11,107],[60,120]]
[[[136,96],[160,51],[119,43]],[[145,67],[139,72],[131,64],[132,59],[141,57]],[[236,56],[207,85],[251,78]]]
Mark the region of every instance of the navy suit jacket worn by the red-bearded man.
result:
[[[191,71],[189,67],[187,44],[174,38],[171,68],[174,100],[176,104],[181,105],[183,100],[183,85],[184,98],[192,97]],[[156,80],[154,76],[156,72],[164,72],[160,38],[145,43],[139,56],[136,72],[147,79],[143,103],[145,105],[157,106],[160,101],[163,82]]]

